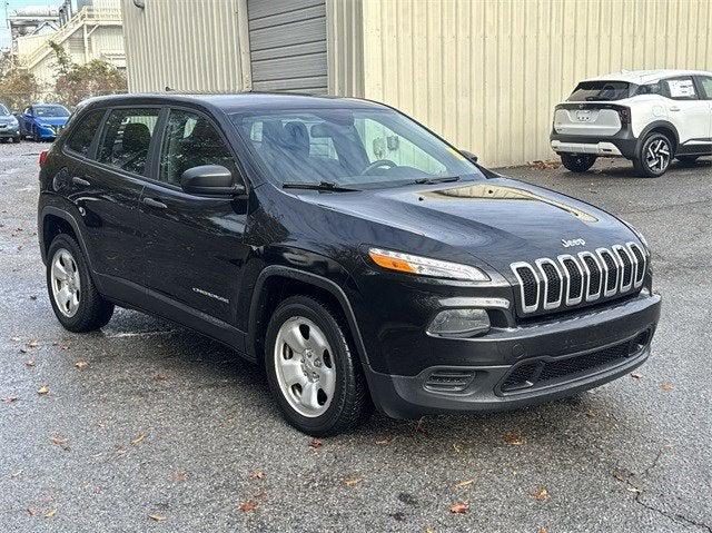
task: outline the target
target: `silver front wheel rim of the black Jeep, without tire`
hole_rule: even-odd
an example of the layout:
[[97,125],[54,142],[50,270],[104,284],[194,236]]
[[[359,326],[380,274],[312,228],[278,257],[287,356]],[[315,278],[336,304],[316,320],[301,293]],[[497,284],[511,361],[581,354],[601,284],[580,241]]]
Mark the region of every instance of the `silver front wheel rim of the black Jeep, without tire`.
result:
[[291,408],[306,417],[329,408],[336,389],[334,352],[314,322],[294,316],[281,325],[275,340],[277,383]]

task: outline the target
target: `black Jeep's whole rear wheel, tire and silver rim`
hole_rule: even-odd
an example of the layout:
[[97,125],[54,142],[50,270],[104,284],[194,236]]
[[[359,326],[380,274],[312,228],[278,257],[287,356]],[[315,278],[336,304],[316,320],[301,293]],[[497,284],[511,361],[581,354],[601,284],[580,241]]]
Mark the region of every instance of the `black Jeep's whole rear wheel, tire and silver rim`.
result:
[[[113,304],[98,293],[77,241],[69,235],[59,234],[47,257],[47,290],[61,325],[75,333],[106,326],[113,314]],[[56,266],[57,261],[61,268]],[[67,290],[62,292],[62,287]]]

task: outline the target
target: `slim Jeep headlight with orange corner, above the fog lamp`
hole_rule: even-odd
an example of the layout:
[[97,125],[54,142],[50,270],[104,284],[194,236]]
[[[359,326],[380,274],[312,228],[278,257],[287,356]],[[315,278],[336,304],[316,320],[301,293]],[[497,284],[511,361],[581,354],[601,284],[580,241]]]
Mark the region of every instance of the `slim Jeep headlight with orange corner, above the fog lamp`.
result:
[[490,276],[479,268],[461,265],[458,263],[443,261],[380,248],[370,248],[368,255],[376,265],[388,270],[446,279],[466,279],[471,282],[490,280]]

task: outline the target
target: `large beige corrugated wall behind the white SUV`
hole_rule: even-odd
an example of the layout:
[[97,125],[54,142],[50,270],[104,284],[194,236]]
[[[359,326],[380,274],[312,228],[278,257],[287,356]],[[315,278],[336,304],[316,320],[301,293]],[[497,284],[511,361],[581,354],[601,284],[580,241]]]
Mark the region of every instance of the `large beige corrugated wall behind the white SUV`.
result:
[[362,9],[364,96],[491,166],[554,158],[552,108],[582,78],[712,70],[709,0],[364,0]]

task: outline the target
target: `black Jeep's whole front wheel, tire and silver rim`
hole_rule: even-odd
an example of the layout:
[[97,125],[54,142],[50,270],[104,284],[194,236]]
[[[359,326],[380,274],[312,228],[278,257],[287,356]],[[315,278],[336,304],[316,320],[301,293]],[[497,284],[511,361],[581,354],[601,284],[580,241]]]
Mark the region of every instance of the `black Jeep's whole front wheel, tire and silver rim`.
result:
[[291,296],[267,327],[265,367],[271,394],[285,420],[313,436],[344,433],[370,414],[358,356],[337,316],[314,298]]

